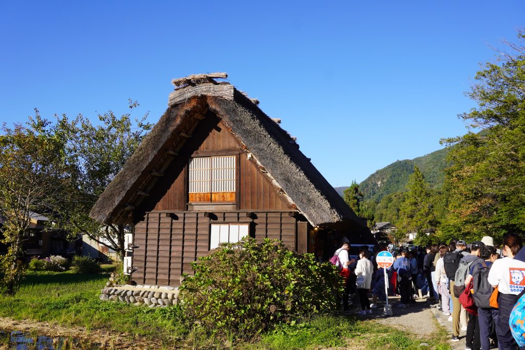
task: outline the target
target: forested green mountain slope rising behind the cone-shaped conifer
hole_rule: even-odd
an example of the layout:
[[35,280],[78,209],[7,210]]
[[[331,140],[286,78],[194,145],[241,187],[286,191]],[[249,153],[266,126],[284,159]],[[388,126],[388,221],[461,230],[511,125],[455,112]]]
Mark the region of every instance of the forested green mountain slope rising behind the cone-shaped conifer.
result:
[[376,202],[388,194],[403,192],[408,177],[414,172],[414,165],[421,170],[432,188],[439,189],[443,187],[447,153],[447,149],[442,149],[413,160],[396,161],[367,177],[359,184],[359,189],[365,199]]

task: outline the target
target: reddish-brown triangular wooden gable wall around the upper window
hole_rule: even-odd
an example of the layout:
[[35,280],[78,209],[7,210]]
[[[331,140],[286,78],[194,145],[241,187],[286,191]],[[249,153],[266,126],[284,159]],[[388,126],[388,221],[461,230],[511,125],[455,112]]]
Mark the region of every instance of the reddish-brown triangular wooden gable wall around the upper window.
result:
[[[253,160],[249,160],[246,152],[241,150],[239,143],[229,132],[226,125],[218,122],[209,131],[204,142],[193,154],[216,155],[221,150],[228,153],[236,152],[239,171],[238,209],[239,210],[288,210],[289,205],[276,191],[276,188],[261,173]],[[187,203],[187,161],[180,173],[166,173],[159,181],[164,193],[158,194],[160,199],[153,210],[186,210]],[[171,183],[171,184],[170,184]]]

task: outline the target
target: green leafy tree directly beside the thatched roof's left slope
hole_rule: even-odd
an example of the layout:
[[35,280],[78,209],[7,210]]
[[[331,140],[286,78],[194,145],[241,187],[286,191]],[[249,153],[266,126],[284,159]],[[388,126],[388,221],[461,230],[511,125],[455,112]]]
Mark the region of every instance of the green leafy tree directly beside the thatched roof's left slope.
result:
[[62,216],[65,228],[74,234],[87,235],[101,245],[125,254],[124,235],[132,230],[124,225],[103,225],[89,217],[89,211],[100,194],[141,144],[153,124],[146,122],[148,114],[133,119],[131,112],[138,107],[129,100],[130,113],[118,117],[112,111],[98,115],[93,124],[81,114],[69,125],[66,152],[76,164],[74,200],[64,203]]

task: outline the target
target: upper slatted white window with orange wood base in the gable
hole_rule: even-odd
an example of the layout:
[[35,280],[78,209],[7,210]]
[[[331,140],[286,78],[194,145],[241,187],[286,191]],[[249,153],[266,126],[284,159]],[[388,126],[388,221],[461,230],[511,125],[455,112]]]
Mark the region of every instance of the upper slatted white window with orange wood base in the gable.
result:
[[192,158],[190,202],[235,202],[235,163],[234,155]]

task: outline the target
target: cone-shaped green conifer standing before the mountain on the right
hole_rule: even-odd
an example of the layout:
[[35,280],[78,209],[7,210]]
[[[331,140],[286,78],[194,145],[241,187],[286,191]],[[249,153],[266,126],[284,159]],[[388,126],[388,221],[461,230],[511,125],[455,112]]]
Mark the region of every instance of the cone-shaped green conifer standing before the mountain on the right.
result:
[[407,189],[400,208],[398,230],[405,234],[417,232],[418,236],[435,232],[434,192],[417,166],[414,166],[414,173],[408,179]]

